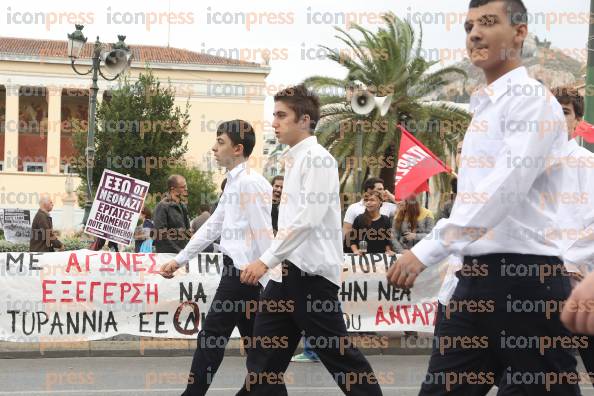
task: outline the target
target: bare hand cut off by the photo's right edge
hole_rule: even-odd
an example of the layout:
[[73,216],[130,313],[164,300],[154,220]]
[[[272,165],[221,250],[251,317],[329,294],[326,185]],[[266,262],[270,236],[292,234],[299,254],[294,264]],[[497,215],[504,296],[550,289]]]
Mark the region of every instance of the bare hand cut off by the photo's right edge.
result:
[[561,321],[574,334],[594,335],[594,273],[573,289],[563,307]]

